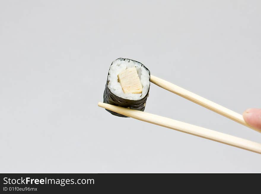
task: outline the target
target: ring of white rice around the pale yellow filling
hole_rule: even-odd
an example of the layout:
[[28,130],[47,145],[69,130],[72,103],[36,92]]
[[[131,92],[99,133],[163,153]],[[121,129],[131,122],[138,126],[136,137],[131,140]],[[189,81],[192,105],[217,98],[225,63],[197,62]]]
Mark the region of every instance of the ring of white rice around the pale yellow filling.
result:
[[[118,82],[118,74],[131,67],[136,67],[137,69],[142,85],[141,94],[125,94],[122,90],[121,84]],[[119,58],[112,62],[112,65],[109,69],[108,81],[108,88],[116,96],[129,100],[140,100],[146,96],[149,90],[149,71],[147,71],[139,62],[132,61],[130,59],[123,60],[122,58]]]

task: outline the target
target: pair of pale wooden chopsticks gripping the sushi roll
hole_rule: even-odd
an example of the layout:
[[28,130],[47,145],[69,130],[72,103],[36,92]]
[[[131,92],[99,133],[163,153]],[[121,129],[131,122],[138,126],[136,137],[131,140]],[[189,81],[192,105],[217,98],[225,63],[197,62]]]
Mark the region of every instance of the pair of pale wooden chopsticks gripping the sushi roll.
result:
[[[150,81],[152,83],[156,84],[157,86],[162,87],[163,89],[173,92],[174,94],[184,97],[187,100],[195,102],[198,105],[208,108],[209,110],[212,110],[220,115],[223,115],[231,120],[234,120],[242,125],[245,125],[249,128],[256,130],[255,128],[251,127],[244,121],[242,115],[235,113],[232,110],[222,107],[221,105],[211,102],[210,100],[200,97],[197,94],[189,92],[179,86],[176,86],[176,85],[174,85],[168,81],[165,81],[163,79],[160,79],[156,76],[151,75]],[[245,150],[249,150],[249,151],[253,151],[253,152],[261,154],[261,144],[257,143],[257,142],[253,142],[253,141],[249,141],[249,140],[246,140],[243,138],[231,136],[231,135],[228,135],[225,133],[220,133],[220,132],[206,129],[203,127],[199,127],[196,125],[191,125],[188,123],[180,122],[180,121],[162,117],[159,115],[142,112],[139,110],[133,110],[133,109],[123,108],[123,107],[119,107],[119,106],[109,105],[109,104],[102,103],[102,102],[99,102],[98,106],[111,110],[113,112],[128,116],[128,117],[131,117],[131,118],[141,120],[141,121],[145,121],[145,122],[152,123],[155,125],[174,129],[177,131],[181,131],[184,133],[188,133],[191,135],[210,139],[210,140],[217,141],[217,142],[220,142],[223,144],[235,146],[235,147],[238,147],[241,149],[245,149]]]

